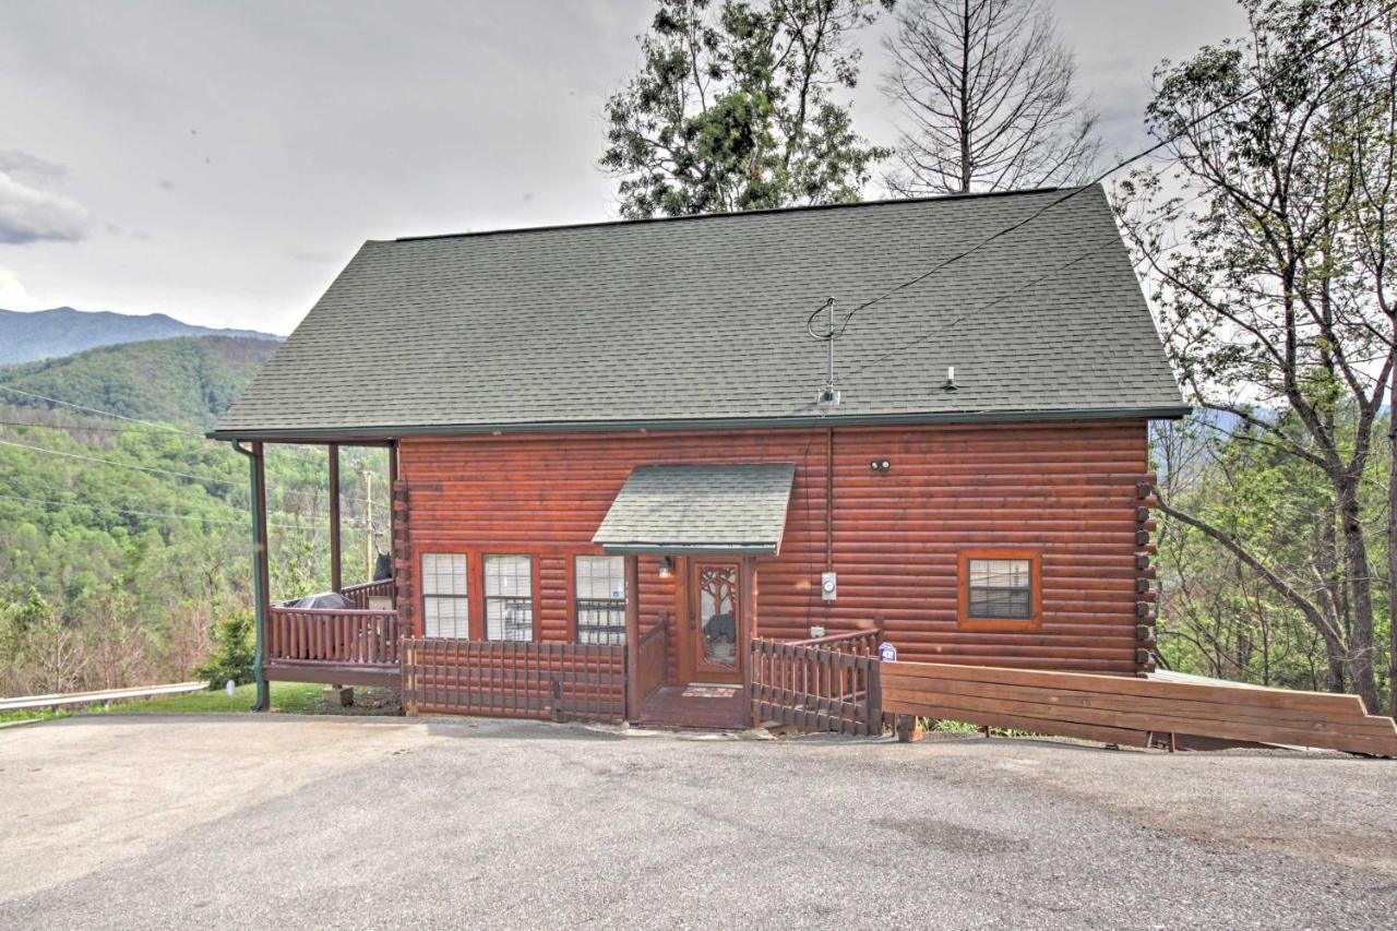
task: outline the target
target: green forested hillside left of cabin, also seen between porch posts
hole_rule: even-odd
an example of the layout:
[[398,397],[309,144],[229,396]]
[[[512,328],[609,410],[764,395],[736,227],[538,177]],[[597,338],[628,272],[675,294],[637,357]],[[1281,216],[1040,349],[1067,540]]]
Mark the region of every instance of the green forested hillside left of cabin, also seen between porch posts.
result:
[[[0,369],[0,695],[186,678],[214,623],[250,608],[247,460],[203,431],[274,348],[200,337]],[[324,590],[324,452],[272,447],[267,466],[272,596]],[[370,533],[387,545],[387,489],[370,506],[365,478],[386,467],[344,453],[348,582]]]

